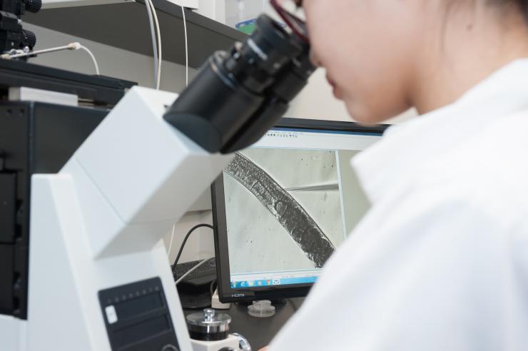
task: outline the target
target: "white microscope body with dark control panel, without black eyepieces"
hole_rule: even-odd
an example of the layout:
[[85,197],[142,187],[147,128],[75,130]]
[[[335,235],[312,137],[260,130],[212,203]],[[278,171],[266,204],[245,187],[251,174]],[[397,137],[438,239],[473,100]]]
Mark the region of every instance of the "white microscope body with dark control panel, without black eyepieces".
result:
[[230,156],[163,120],[175,98],[132,88],[58,174],[33,176],[18,350],[191,351],[162,238]]

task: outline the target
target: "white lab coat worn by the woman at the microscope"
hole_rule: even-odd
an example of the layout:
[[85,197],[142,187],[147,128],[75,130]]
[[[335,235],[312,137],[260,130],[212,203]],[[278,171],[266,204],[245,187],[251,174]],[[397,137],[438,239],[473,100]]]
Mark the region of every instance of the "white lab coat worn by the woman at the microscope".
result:
[[372,208],[270,350],[528,350],[528,59],[352,166]]

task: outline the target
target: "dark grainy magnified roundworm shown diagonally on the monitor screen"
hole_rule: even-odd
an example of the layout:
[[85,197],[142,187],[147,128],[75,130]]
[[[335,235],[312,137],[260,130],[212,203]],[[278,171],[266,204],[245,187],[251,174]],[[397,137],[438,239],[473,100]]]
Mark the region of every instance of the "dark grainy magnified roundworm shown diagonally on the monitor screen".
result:
[[240,153],[236,153],[235,158],[224,171],[253,193],[277,218],[280,225],[316,268],[323,267],[335,251],[335,247],[315,220],[288,191],[275,182],[266,171]]

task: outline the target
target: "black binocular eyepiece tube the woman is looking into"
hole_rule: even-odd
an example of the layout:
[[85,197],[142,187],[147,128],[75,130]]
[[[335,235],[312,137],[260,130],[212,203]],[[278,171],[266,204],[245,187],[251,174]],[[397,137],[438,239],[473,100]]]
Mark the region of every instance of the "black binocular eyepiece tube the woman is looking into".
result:
[[310,46],[267,15],[229,51],[218,51],[164,118],[210,153],[250,146],[273,126],[315,69]]

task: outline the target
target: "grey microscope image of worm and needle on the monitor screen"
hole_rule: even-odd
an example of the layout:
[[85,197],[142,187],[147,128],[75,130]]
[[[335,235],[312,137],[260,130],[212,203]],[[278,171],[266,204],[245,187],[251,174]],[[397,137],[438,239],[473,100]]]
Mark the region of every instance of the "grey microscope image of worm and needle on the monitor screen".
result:
[[[248,148],[224,170],[230,272],[322,268],[347,235],[340,157]],[[342,163],[342,162],[341,162]]]

